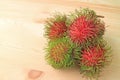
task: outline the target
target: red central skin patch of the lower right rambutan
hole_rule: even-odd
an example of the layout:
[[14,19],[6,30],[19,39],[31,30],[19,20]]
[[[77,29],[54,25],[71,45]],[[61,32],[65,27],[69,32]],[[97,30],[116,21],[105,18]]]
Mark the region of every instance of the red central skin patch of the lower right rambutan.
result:
[[81,63],[86,66],[100,66],[105,62],[105,50],[102,47],[91,47],[89,50],[82,51]]

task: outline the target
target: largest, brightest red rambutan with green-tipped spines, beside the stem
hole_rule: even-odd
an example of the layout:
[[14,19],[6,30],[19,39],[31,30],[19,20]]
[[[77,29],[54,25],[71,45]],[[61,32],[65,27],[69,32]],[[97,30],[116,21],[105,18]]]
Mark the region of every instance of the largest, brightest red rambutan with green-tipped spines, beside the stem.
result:
[[104,23],[97,18],[94,11],[83,9],[83,11],[77,11],[76,14],[77,17],[71,21],[68,31],[74,43],[85,44],[104,34]]

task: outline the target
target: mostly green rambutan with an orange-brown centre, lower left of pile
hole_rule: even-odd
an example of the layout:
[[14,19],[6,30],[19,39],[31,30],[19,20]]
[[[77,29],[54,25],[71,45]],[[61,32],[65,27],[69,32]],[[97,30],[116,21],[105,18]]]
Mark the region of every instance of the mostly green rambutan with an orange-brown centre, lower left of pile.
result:
[[71,55],[72,47],[72,43],[66,37],[50,41],[46,60],[54,68],[71,67],[74,64]]

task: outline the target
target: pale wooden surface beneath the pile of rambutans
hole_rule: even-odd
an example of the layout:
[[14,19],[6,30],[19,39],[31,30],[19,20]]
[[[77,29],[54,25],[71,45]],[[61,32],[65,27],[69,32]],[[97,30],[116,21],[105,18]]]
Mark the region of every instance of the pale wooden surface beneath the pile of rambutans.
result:
[[111,45],[114,57],[100,80],[120,80],[120,7],[115,3],[93,3],[79,0],[1,0],[0,80],[32,80],[26,78],[31,69],[44,72],[36,80],[85,80],[76,69],[55,70],[44,60],[47,43],[43,36],[45,19],[55,11],[68,13],[79,7],[89,7],[105,16],[103,20],[107,27],[104,37]]

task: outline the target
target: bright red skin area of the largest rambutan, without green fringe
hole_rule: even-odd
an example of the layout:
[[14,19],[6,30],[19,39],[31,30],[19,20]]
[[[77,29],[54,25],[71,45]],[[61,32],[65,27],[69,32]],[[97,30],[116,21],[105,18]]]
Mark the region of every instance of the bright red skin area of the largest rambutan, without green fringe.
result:
[[101,29],[100,27],[96,26],[93,20],[80,16],[69,26],[69,36],[74,43],[82,44],[98,37],[101,30],[104,32],[104,28]]

